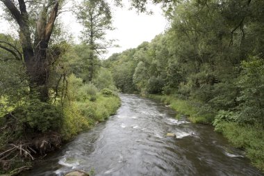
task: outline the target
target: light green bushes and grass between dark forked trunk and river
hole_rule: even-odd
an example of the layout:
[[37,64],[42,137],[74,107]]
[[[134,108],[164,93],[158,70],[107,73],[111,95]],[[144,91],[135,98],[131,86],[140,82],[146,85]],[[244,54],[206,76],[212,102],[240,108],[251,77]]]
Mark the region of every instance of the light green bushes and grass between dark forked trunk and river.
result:
[[63,105],[63,126],[60,127],[64,140],[108,119],[119,107],[119,98],[113,96],[112,90],[104,88],[99,92],[94,84],[83,83],[74,74],[67,80],[68,93]]

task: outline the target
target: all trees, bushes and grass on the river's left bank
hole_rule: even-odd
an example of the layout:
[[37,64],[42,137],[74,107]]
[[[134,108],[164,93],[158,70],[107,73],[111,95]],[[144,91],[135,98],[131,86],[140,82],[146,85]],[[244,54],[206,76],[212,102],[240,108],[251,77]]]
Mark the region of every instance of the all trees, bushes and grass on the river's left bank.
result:
[[86,8],[75,12],[83,24],[75,45],[56,20],[63,3],[0,1],[19,33],[0,34],[0,174],[30,169],[33,160],[108,119],[120,105],[99,59],[109,43],[103,41],[111,25],[108,4],[74,5]]

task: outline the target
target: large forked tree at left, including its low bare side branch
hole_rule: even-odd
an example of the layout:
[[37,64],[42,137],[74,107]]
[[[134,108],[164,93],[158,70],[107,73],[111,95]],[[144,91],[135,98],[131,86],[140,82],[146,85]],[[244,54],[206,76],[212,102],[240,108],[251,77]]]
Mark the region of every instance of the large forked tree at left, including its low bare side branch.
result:
[[[49,41],[58,16],[60,1],[0,1],[6,8],[8,16],[19,26],[22,54],[12,45],[9,47],[0,45],[0,47],[9,51],[15,58],[24,61],[31,92],[37,93],[42,102],[47,102],[49,99],[48,79],[52,63]],[[38,16],[31,11],[32,9],[38,11]]]

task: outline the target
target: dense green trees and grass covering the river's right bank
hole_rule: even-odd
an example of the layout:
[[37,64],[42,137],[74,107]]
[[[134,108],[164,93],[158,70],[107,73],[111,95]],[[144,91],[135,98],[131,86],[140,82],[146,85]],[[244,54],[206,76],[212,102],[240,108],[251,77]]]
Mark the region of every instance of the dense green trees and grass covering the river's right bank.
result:
[[[158,99],[264,170],[264,1],[182,1],[151,42],[105,61],[117,88]],[[179,115],[181,116],[181,115]]]

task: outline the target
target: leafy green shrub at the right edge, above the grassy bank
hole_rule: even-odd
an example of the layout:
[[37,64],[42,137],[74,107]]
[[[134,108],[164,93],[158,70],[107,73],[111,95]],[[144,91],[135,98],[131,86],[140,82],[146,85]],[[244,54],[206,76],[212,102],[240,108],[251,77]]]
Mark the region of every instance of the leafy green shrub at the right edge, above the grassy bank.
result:
[[238,77],[240,96],[237,98],[238,122],[262,124],[264,129],[264,60],[253,57],[242,62]]

